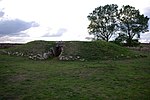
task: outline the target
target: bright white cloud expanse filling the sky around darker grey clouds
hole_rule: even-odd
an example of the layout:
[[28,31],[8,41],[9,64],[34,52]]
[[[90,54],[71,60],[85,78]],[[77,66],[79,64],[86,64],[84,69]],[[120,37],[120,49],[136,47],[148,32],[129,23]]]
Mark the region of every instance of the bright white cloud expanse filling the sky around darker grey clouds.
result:
[[[40,24],[39,27],[23,31],[29,35],[29,40],[46,39],[42,37],[44,35],[55,36],[51,37],[52,40],[84,40],[88,36],[87,15],[96,7],[106,4],[131,5],[141,13],[150,7],[149,0],[2,0],[0,7],[4,8],[4,16],[8,16],[8,19],[18,18]],[[67,31],[60,34],[61,28]]]

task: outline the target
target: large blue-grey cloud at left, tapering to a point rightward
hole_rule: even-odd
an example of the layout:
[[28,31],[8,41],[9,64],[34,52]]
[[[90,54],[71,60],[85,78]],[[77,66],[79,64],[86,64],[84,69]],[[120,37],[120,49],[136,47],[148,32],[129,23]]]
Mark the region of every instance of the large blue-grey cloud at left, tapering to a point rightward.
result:
[[16,35],[21,31],[25,31],[31,27],[38,27],[36,22],[25,22],[20,19],[1,20],[0,21],[0,36]]

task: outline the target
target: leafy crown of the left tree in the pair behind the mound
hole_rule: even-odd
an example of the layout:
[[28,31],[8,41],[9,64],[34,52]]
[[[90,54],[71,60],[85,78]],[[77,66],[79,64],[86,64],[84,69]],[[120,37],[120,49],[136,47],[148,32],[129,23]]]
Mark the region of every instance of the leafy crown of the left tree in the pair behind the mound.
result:
[[94,35],[94,39],[108,41],[115,33],[117,8],[115,4],[100,6],[88,15],[91,22],[88,31]]

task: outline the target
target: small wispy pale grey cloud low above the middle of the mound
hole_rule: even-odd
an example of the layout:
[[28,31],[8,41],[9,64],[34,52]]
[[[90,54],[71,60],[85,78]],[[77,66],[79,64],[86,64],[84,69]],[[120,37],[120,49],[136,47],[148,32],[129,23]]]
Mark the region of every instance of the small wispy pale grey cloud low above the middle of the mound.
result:
[[67,30],[64,28],[60,28],[56,33],[46,33],[45,35],[43,35],[43,37],[60,37],[63,35],[63,33],[65,33]]

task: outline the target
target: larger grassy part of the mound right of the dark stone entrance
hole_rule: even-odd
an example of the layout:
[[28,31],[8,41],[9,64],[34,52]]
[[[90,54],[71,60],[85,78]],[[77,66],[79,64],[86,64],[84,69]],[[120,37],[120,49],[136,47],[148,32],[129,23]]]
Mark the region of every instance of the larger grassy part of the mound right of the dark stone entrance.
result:
[[[138,54],[124,47],[104,41],[65,42],[62,57],[83,60],[121,59],[138,57]],[[68,58],[68,59],[69,59]]]

